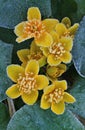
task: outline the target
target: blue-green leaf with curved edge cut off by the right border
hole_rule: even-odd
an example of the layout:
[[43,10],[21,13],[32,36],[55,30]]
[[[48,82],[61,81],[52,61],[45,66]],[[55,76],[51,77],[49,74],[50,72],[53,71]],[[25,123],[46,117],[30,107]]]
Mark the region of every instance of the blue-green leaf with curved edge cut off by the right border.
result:
[[85,77],[85,17],[81,21],[75,36],[72,54],[77,72]]

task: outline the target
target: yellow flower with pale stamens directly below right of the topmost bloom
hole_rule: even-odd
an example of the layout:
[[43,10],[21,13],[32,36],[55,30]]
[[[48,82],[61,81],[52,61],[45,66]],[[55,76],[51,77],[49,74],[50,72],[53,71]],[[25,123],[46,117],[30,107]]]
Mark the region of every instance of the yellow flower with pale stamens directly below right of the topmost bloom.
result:
[[54,42],[50,47],[42,47],[43,54],[47,57],[47,62],[50,66],[57,66],[61,62],[70,63],[72,55],[70,53],[73,40],[70,37],[57,38],[53,36]]

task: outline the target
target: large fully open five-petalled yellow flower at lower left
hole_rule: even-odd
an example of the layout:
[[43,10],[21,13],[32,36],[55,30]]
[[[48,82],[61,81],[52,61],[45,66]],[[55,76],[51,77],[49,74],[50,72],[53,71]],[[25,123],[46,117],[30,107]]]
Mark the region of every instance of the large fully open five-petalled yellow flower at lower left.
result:
[[34,104],[38,98],[38,90],[42,90],[49,83],[48,78],[38,75],[38,72],[39,64],[35,60],[29,61],[25,69],[19,65],[9,65],[7,74],[16,84],[8,88],[6,94],[13,99],[21,96],[26,104]]

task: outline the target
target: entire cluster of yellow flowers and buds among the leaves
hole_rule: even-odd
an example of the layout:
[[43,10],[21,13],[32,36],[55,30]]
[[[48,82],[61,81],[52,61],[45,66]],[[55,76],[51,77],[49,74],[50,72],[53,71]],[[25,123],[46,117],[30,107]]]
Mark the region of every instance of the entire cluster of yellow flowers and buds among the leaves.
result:
[[[38,98],[38,90],[43,90],[40,107],[62,114],[65,102],[73,103],[75,98],[65,92],[67,82],[58,80],[66,71],[66,63],[70,63],[70,53],[73,46],[74,34],[79,24],[71,26],[69,18],[59,22],[57,19],[41,21],[41,13],[37,7],[31,7],[27,12],[27,21],[15,27],[18,43],[34,38],[30,49],[22,49],[17,55],[22,62],[20,65],[9,65],[7,74],[16,84],[7,89],[6,94],[15,99],[19,96],[28,104],[33,105]],[[46,75],[39,70],[46,67]],[[49,81],[51,81],[49,85]]]

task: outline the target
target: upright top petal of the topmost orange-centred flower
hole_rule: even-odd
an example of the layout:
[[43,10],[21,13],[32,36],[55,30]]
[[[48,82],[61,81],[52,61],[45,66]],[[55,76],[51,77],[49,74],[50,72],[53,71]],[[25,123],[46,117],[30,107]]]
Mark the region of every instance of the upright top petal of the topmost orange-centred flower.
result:
[[39,19],[39,20],[41,20],[40,10],[37,7],[29,8],[28,12],[27,12],[27,19],[28,20],[32,20],[32,19]]

